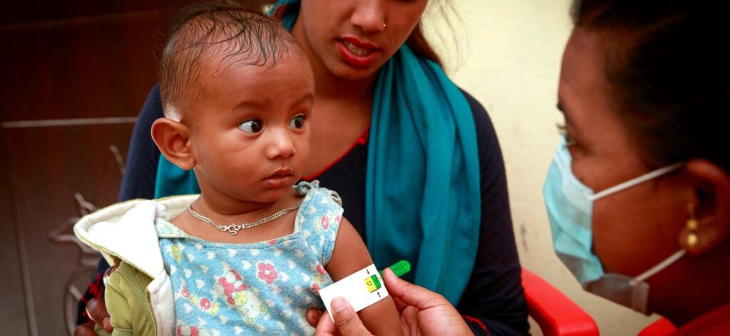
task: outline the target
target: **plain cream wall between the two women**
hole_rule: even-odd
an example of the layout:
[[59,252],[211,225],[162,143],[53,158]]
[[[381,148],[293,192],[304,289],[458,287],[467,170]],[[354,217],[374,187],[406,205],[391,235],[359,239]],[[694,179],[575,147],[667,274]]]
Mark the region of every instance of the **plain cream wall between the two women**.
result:
[[[442,0],[432,0],[436,1]],[[483,103],[495,125],[507,165],[522,265],[583,307],[602,335],[636,335],[656,316],[634,313],[580,289],[553,252],[542,201],[542,185],[558,141],[556,123],[562,121],[555,106],[561,55],[572,28],[570,1],[452,2],[461,16],[452,19],[454,29],[437,17],[438,11],[430,10],[424,19],[426,31],[431,36],[440,31],[445,37],[439,52],[447,60],[448,73]],[[458,50],[450,42],[455,36]]]

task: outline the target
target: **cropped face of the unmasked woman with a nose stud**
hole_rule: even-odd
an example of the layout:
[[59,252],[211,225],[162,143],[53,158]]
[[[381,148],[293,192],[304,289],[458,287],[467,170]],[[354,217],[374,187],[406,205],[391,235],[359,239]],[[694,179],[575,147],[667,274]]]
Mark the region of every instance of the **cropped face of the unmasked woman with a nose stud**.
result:
[[292,33],[315,73],[373,77],[418,24],[427,0],[303,0]]

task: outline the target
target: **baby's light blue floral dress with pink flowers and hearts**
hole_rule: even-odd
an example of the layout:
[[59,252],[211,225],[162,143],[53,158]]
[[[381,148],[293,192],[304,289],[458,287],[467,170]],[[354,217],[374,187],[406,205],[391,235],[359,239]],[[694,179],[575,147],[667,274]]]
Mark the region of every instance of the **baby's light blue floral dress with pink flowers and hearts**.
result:
[[325,267],[342,218],[333,194],[311,186],[293,233],[258,243],[204,241],[156,219],[177,335],[312,335],[304,313],[324,308],[319,289],[332,283]]

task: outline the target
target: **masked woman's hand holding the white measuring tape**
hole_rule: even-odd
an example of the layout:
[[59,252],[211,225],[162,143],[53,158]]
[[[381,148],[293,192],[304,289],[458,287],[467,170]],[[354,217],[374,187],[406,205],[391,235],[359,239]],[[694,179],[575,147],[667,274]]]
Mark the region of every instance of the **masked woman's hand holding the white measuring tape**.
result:
[[[383,272],[383,279],[401,313],[404,335],[472,335],[456,308],[442,295],[399,279],[390,269]],[[317,310],[307,311],[310,324],[317,323],[315,335],[337,335],[338,331],[346,336],[371,335],[347,301],[332,300],[331,307],[334,323]]]

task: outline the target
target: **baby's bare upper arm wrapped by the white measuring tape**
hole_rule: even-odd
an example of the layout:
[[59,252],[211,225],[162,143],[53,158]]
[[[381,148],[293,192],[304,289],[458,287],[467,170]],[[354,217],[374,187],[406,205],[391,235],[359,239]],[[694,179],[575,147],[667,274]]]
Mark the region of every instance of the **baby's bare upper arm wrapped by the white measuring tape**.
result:
[[[332,258],[326,267],[327,273],[332,280],[339,281],[369,265],[372,265],[372,258],[365,243],[353,225],[342,217]],[[403,335],[398,310],[390,296],[361,310],[358,315],[365,327],[374,335]],[[322,318],[329,319],[329,316],[325,313]]]

